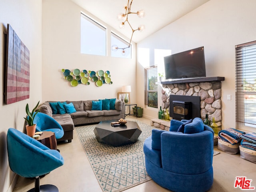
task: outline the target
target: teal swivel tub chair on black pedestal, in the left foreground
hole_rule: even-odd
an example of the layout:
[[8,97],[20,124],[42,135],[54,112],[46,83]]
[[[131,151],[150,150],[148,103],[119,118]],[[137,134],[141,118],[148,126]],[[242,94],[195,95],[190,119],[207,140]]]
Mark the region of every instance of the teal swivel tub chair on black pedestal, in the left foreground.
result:
[[36,178],[35,188],[28,192],[58,192],[54,185],[40,186],[41,175],[62,166],[64,159],[57,150],[51,150],[32,137],[9,128],[7,132],[7,150],[10,169],[16,174]]

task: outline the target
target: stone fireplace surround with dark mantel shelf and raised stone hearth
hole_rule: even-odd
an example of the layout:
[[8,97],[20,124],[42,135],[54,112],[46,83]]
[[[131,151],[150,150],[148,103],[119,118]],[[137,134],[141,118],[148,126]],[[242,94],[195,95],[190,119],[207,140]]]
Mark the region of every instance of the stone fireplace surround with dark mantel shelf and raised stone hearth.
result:
[[[204,120],[207,113],[210,121],[212,121],[212,117],[215,118],[219,130],[221,130],[221,81],[224,81],[224,77],[163,81],[161,82],[162,109],[169,108],[170,95],[200,96],[200,116],[202,120]],[[153,119],[152,125],[162,130],[169,130],[170,122]]]

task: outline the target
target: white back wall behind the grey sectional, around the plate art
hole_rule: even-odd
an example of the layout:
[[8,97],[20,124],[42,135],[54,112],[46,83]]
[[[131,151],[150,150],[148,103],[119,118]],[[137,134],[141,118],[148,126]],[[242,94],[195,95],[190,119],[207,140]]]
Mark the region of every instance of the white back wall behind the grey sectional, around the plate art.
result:
[[[43,0],[43,100],[116,98],[122,86],[131,85],[131,102],[136,102],[136,44],[132,46],[132,59],[112,58],[109,55],[110,30],[113,29],[98,20],[107,27],[108,56],[81,54],[81,11],[92,16],[70,0]],[[62,68],[71,71],[76,68],[96,72],[109,70],[113,84],[97,87],[91,82],[89,86],[79,84],[72,87],[63,79]]]

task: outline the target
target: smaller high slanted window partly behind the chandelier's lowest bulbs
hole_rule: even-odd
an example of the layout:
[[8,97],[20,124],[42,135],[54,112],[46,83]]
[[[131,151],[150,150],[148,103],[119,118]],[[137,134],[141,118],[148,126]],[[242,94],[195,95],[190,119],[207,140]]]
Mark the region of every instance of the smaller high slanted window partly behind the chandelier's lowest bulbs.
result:
[[[129,46],[129,43],[125,40],[123,40],[122,38],[120,38],[119,36],[117,36],[116,34],[114,34],[113,32],[111,32],[111,47],[113,45],[117,45],[119,48],[126,48]],[[111,50],[111,56],[112,57],[120,57],[120,58],[131,58],[131,50],[132,50],[132,44],[130,45],[129,48],[126,48],[125,51],[125,55],[122,55],[122,49],[118,49],[116,51]]]

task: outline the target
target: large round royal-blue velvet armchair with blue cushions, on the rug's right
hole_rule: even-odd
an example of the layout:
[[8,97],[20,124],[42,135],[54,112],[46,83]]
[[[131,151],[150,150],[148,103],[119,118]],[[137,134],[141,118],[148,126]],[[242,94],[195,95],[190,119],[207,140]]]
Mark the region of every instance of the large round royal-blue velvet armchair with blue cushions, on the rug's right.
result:
[[[182,125],[183,132],[177,132]],[[171,120],[170,130],[153,129],[144,142],[149,176],[174,192],[209,190],[213,184],[213,130],[200,118],[189,124]]]

